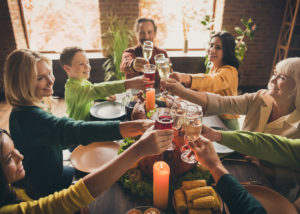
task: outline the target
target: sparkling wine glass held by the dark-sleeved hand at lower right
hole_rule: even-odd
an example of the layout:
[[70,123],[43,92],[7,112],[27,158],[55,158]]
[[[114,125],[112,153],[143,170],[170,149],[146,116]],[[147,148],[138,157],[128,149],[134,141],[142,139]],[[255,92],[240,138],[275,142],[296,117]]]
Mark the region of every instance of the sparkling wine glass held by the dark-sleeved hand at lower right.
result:
[[[196,141],[202,130],[203,111],[202,107],[198,105],[188,105],[186,108],[186,115],[184,120],[184,142]],[[194,153],[187,145],[181,147],[181,160],[194,164],[197,162]]]

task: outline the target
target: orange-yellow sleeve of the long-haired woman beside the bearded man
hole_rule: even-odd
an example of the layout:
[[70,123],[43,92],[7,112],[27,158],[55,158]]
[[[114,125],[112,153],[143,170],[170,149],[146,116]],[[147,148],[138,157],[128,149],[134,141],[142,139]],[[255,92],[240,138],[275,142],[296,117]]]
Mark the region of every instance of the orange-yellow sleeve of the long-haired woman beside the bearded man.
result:
[[237,87],[238,71],[233,66],[223,66],[215,73],[192,74],[191,89],[216,93],[220,90]]

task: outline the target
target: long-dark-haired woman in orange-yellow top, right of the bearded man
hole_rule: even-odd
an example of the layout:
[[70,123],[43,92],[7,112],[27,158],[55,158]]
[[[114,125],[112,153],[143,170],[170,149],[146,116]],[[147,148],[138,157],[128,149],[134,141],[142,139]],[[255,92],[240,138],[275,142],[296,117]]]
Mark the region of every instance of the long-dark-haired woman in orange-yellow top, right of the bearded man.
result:
[[[214,34],[209,42],[208,60],[211,68],[208,74],[185,74],[173,72],[170,78],[196,91],[206,91],[222,96],[238,95],[238,67],[235,56],[235,39],[228,32]],[[221,114],[219,118],[231,130],[238,130],[238,115]]]

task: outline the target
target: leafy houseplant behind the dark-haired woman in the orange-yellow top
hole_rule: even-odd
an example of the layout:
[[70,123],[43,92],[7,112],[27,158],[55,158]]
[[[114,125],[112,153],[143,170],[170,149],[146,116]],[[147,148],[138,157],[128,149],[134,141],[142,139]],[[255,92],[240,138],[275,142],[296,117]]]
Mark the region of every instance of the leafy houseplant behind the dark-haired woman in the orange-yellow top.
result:
[[[240,27],[234,28],[235,32],[238,34],[235,38],[235,43],[236,43],[235,56],[238,59],[240,64],[242,63],[245,53],[247,51],[247,46],[244,39],[248,37],[250,40],[252,40],[254,38],[254,33],[256,31],[256,24],[252,21],[252,19],[248,19],[248,20],[241,19],[241,22],[244,26],[244,29]],[[201,24],[204,25],[206,29],[209,31],[210,36],[212,36],[215,33],[215,31],[212,30],[213,23],[214,20],[211,19],[211,17],[208,15],[205,16],[201,21]],[[208,73],[210,70],[208,55],[206,55],[205,67],[206,67],[206,73]]]

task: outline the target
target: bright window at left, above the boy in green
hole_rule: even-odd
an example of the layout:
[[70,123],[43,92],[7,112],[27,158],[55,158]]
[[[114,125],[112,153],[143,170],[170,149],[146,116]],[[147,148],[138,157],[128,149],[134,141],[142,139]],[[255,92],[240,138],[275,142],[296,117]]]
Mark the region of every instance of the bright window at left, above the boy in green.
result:
[[60,52],[67,46],[101,48],[99,0],[21,0],[29,45]]

